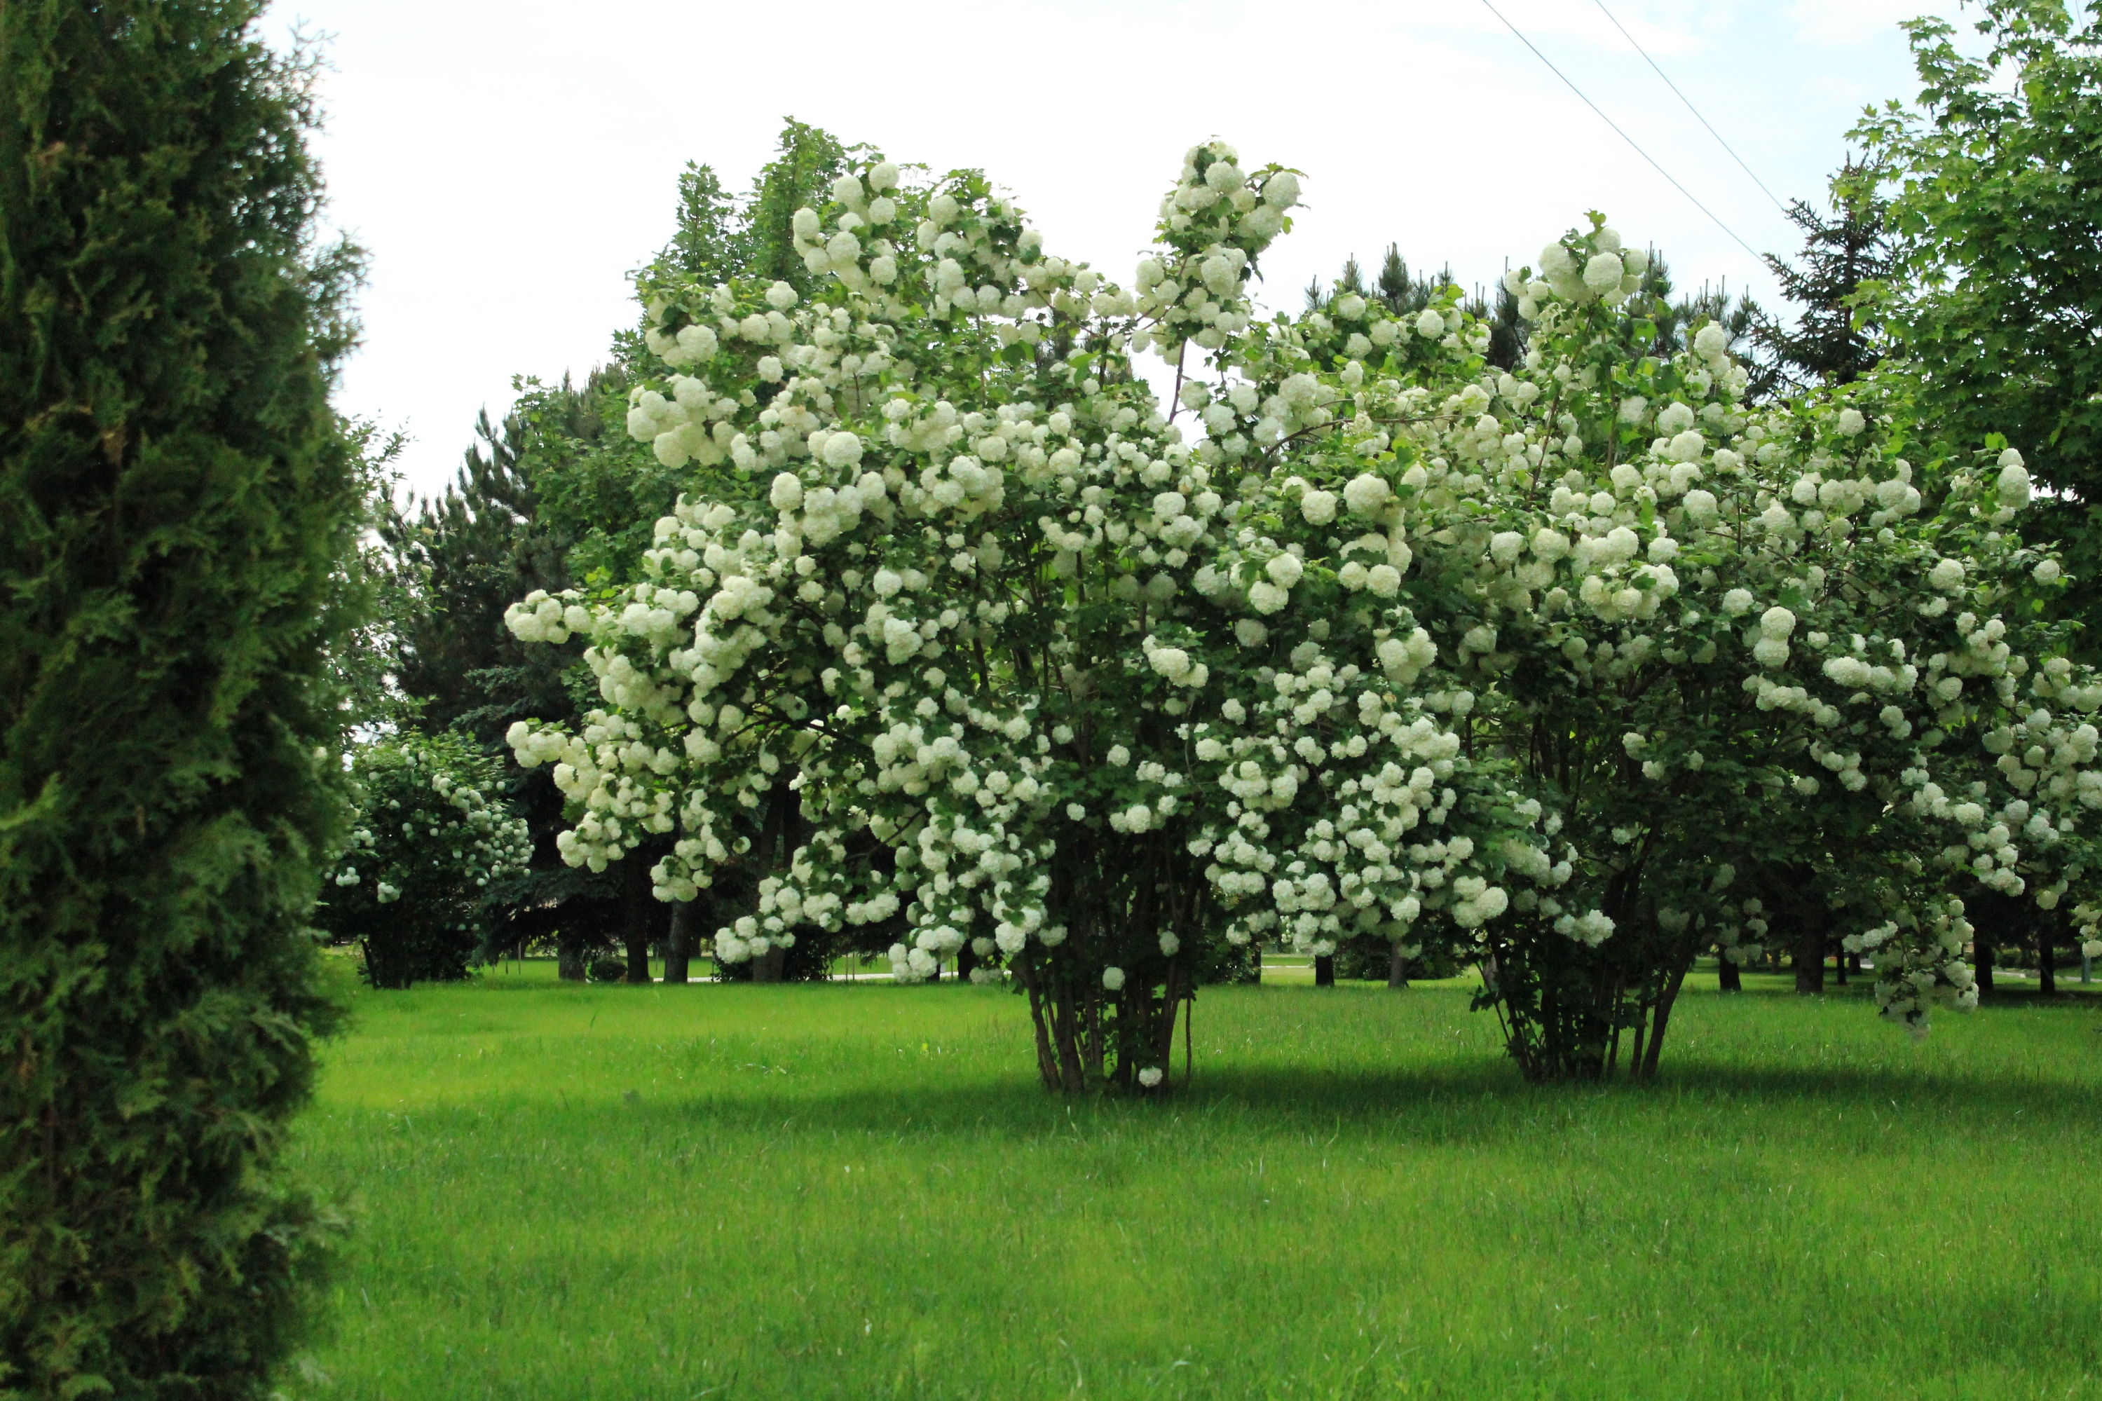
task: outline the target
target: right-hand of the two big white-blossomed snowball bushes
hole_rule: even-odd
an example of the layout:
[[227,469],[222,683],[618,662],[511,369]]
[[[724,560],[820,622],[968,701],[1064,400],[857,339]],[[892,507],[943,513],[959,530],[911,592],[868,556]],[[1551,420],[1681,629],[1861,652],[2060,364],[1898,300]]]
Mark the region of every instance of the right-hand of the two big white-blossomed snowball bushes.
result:
[[1461,597],[1434,630],[1480,697],[1469,746],[1520,767],[1572,872],[1482,939],[1534,1073],[1598,1073],[1627,1027],[1654,1069],[1692,958],[1757,954],[1753,863],[1875,952],[1888,1017],[1972,1006],[1957,895],[2054,907],[2102,804],[2102,685],[2028,607],[2064,578],[2014,527],[2020,454],[1936,464],[1930,504],[1883,384],[1753,410],[1719,328],[1631,353],[1654,344],[1640,271],[1595,216],[1549,244],[1509,279],[1524,365],[1444,361],[1396,431],[1417,586]]

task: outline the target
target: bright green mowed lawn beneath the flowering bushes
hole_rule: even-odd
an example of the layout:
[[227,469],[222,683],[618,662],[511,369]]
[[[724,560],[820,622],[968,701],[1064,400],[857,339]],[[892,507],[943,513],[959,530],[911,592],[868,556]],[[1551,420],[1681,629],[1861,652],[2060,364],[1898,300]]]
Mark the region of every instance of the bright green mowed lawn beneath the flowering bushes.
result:
[[1688,991],[1663,1084],[1541,1088],[1457,985],[1207,989],[1139,1105],[996,989],[362,994],[288,1393],[2102,1397],[2098,1025]]

